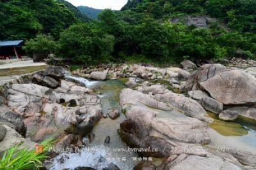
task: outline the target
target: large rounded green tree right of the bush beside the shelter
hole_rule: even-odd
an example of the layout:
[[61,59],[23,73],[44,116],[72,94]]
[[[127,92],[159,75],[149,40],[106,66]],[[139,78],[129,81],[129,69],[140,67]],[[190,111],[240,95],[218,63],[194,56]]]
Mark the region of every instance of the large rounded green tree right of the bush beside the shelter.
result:
[[75,24],[61,32],[58,55],[79,64],[97,64],[111,59],[115,37],[100,34],[89,24]]

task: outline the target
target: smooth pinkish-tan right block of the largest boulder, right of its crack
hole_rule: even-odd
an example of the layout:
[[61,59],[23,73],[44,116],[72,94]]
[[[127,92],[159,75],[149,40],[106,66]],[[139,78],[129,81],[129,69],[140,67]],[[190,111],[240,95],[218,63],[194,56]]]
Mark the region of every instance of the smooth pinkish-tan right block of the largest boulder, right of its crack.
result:
[[244,71],[218,73],[200,86],[223,104],[256,103],[256,78]]

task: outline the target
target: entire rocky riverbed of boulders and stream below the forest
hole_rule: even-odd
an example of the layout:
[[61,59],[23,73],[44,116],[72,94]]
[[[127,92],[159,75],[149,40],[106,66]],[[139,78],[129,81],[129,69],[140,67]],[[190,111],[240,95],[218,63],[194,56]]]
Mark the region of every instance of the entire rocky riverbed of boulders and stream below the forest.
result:
[[253,169],[255,73],[189,60],[49,66],[1,85],[0,152],[53,137],[47,169]]

